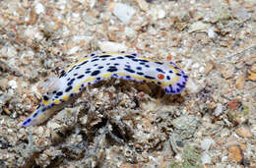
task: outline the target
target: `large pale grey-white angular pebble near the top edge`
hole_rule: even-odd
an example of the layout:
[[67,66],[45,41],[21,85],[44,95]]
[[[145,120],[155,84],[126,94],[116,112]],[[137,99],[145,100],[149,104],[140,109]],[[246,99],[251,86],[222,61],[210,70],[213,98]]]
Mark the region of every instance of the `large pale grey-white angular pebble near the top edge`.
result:
[[124,24],[128,24],[135,13],[135,10],[125,4],[117,3],[114,7],[113,14]]

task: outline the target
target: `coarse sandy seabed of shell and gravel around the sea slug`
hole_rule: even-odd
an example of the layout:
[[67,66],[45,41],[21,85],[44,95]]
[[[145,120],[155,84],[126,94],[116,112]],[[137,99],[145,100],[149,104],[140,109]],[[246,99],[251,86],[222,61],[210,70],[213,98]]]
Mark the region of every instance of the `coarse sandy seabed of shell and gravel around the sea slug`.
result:
[[[96,51],[176,63],[185,91],[90,85],[22,127],[45,80]],[[256,167],[256,1],[0,1],[0,167]]]

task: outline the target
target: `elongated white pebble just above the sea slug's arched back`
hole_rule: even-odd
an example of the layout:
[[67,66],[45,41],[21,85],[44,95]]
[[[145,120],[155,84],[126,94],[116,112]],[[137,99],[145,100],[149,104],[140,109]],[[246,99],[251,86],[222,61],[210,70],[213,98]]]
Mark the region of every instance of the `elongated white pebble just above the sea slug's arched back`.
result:
[[101,51],[108,51],[108,52],[127,50],[127,47],[125,46],[125,44],[111,42],[111,41],[103,41],[103,42],[99,41],[98,46]]

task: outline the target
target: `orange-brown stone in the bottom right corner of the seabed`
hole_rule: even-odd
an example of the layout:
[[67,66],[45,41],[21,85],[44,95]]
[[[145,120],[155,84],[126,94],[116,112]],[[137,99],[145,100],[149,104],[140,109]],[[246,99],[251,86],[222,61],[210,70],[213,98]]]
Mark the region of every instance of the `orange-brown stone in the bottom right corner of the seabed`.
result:
[[235,160],[240,163],[243,159],[243,149],[240,145],[232,145],[228,147],[228,158],[229,160]]

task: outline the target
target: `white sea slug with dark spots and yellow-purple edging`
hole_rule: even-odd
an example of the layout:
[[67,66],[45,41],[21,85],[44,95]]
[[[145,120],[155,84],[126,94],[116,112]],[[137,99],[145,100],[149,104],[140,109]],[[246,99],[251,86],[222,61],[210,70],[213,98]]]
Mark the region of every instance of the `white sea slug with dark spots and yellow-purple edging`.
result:
[[180,93],[188,76],[174,63],[161,63],[126,52],[93,53],[67,67],[44,94],[32,116],[23,126],[43,123],[63,104],[90,84],[109,78],[159,84],[166,94]]

